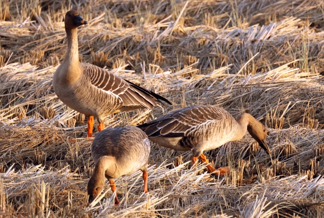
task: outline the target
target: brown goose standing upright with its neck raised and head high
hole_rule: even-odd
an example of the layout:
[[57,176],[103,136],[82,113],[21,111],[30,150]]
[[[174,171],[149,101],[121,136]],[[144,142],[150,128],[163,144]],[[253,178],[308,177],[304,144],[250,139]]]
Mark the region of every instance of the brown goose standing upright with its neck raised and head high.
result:
[[68,49],[53,76],[57,97],[68,107],[88,116],[87,137],[92,137],[94,117],[104,129],[109,114],[134,109],[152,109],[168,100],[113,73],[89,63],[79,62],[77,28],[88,22],[76,10],[65,15]]

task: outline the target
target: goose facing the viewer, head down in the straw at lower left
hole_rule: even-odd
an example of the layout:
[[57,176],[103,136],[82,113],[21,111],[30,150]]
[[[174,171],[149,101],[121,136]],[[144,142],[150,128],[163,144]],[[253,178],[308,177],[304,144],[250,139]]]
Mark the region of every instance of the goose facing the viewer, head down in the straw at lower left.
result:
[[[91,157],[95,168],[89,179],[87,191],[91,202],[108,179],[111,190],[116,191],[113,181],[123,175],[131,175],[137,170],[143,172],[144,192],[147,193],[147,162],[150,154],[150,140],[137,127],[107,128],[94,138]],[[117,195],[115,205],[119,204]]]

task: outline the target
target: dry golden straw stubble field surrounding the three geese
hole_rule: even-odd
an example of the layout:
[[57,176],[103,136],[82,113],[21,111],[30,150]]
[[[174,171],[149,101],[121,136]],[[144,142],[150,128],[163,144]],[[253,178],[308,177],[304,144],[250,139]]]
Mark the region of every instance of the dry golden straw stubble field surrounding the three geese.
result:
[[[87,205],[93,170],[84,115],[61,103],[52,77],[66,53],[64,15],[80,11],[82,62],[173,106],[114,114],[135,126],[189,105],[249,112],[268,130],[271,158],[246,134],[205,154],[152,143],[149,193],[140,172]],[[323,0],[0,1],[0,216],[321,217],[324,213]],[[100,203],[99,203],[100,202]]]

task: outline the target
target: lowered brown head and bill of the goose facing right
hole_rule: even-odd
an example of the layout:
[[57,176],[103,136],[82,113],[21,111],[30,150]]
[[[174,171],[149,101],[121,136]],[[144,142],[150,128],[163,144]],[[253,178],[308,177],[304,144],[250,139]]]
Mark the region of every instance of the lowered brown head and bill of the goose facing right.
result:
[[248,133],[259,143],[267,154],[270,154],[270,148],[267,143],[267,130],[266,127],[258,120],[254,119],[247,125]]

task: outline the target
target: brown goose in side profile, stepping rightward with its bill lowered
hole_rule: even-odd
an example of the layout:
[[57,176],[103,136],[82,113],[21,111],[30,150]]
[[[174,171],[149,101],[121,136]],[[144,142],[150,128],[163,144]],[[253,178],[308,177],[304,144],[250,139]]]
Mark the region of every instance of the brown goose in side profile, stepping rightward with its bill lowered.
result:
[[237,120],[216,106],[189,106],[137,126],[158,145],[177,151],[192,151],[192,164],[200,157],[210,173],[225,175],[229,167],[217,170],[209,164],[205,150],[243,138],[246,130],[270,154],[265,126],[252,115],[243,113]]

